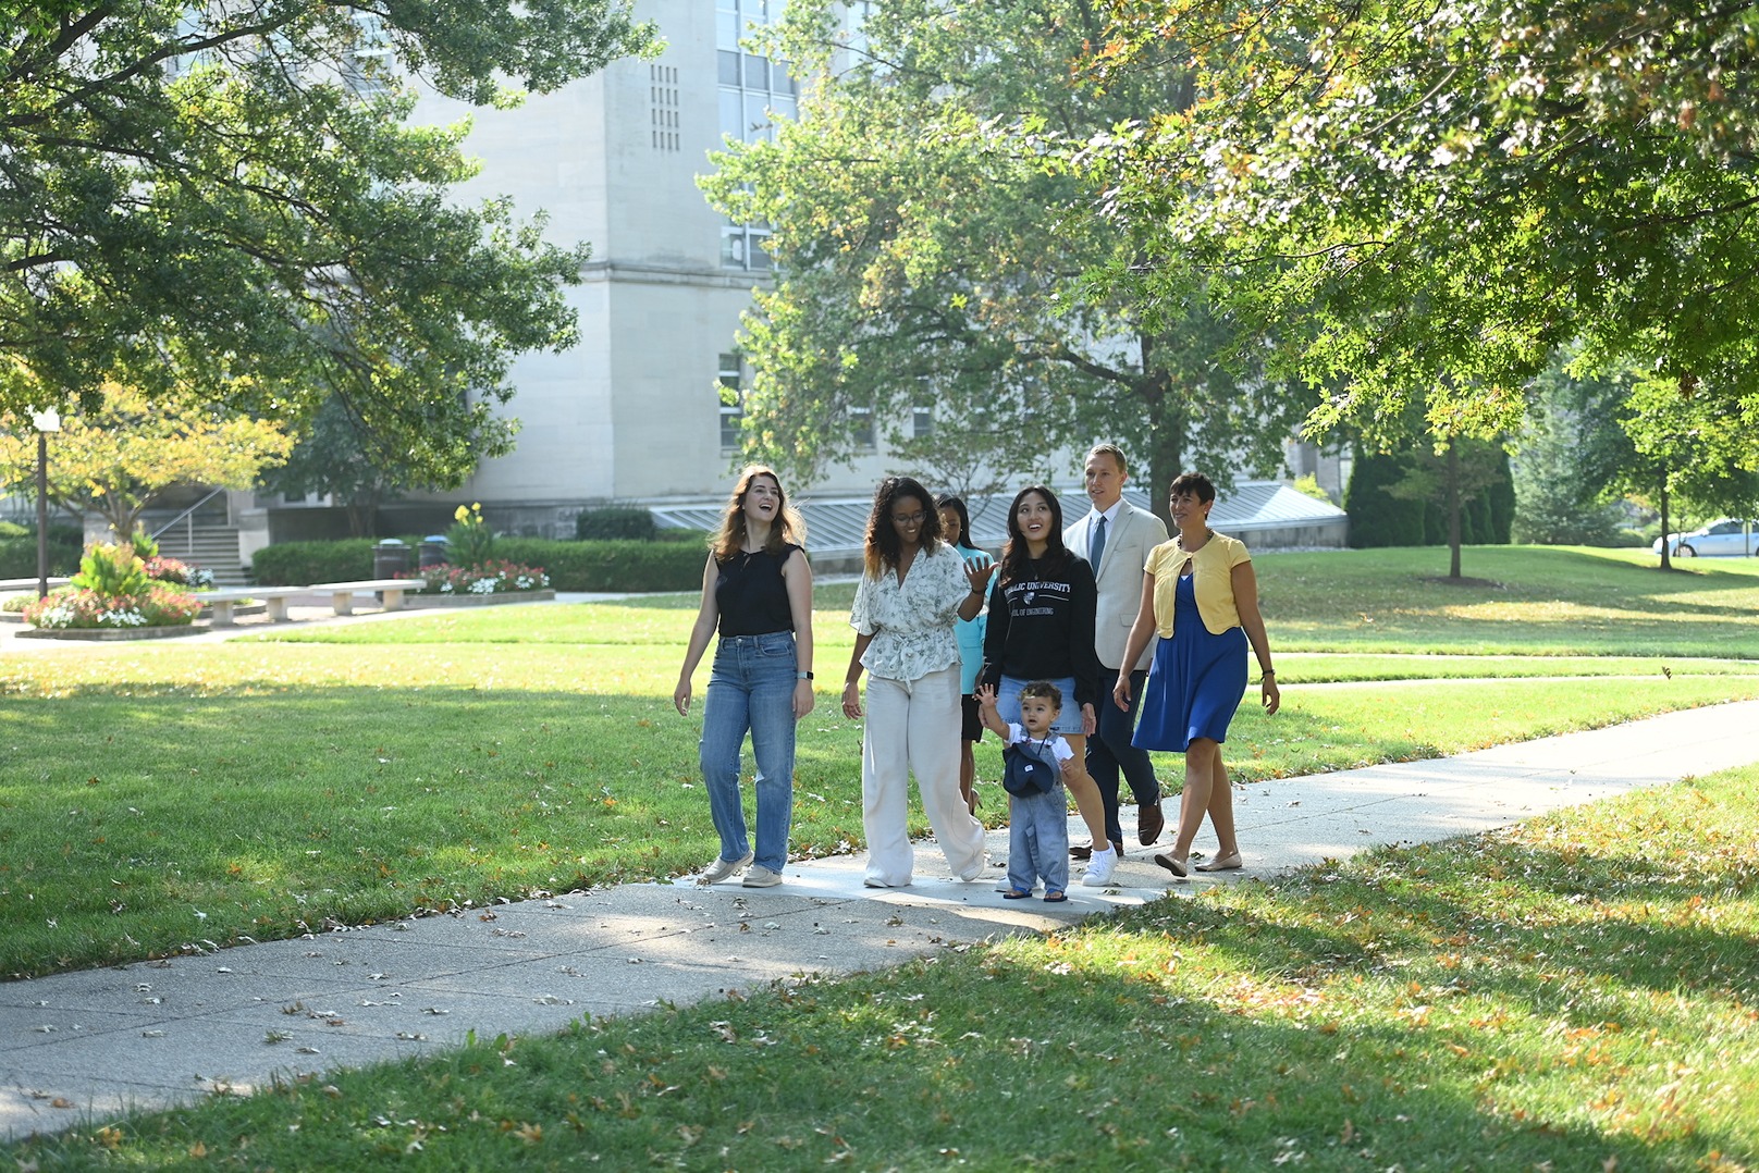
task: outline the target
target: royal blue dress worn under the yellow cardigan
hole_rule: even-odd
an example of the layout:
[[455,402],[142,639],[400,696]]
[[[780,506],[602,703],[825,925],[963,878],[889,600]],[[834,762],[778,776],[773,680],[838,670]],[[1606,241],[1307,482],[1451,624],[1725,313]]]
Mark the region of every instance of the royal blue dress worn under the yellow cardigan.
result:
[[1173,638],[1161,640],[1142,691],[1142,723],[1131,744],[1138,749],[1184,753],[1193,737],[1228,740],[1245,695],[1245,630],[1210,635],[1198,614],[1191,575],[1180,575],[1173,596]]

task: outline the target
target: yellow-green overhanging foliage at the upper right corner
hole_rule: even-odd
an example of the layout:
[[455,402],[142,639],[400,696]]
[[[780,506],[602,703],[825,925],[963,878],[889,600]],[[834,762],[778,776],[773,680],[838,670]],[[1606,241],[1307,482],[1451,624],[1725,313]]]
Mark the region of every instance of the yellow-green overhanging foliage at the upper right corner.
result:
[[1196,100],[1091,135],[1084,164],[1122,232],[1201,255],[1337,387],[1316,424],[1427,403],[1437,434],[1513,429],[1527,382],[1580,343],[1752,431],[1752,4],[1113,11],[1096,76],[1177,72]]

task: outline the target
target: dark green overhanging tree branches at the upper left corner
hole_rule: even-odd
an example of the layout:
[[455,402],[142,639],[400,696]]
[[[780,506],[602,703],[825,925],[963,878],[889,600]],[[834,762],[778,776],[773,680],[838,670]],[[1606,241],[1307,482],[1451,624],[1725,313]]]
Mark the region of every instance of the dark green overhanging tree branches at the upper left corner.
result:
[[640,51],[619,0],[0,0],[0,408],[127,373],[303,420],[331,394],[456,482],[584,250],[464,208],[464,127]]

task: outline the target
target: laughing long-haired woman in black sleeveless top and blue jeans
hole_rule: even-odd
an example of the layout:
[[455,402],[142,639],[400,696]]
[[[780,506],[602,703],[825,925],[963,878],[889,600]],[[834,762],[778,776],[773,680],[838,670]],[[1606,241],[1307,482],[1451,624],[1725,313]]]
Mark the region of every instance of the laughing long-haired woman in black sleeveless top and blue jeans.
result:
[[[776,473],[746,468],[702,568],[702,607],[672,691],[672,703],[688,716],[690,677],[709,638],[719,635],[698,756],[721,853],[697,883],[719,883],[749,865],[744,886],[770,888],[788,862],[793,732],[813,710],[813,572],[804,538],[806,526]],[[739,793],[746,732],[758,765],[755,848]]]

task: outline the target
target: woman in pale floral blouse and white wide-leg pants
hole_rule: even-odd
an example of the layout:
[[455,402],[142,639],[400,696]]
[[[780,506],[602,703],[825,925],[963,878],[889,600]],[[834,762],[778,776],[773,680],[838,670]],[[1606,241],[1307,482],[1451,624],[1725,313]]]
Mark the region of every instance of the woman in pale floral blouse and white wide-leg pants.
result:
[[959,797],[959,642],[953,619],[983,607],[994,566],[966,563],[941,540],[934,498],[909,477],[887,477],[867,515],[867,550],[855,589],[855,654],[843,684],[843,716],[860,718],[862,827],[869,888],[911,881],[909,776],[953,876],[983,876],[983,825]]

